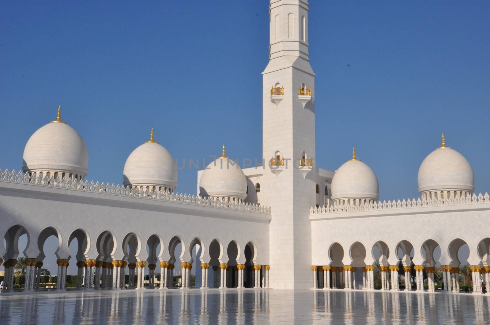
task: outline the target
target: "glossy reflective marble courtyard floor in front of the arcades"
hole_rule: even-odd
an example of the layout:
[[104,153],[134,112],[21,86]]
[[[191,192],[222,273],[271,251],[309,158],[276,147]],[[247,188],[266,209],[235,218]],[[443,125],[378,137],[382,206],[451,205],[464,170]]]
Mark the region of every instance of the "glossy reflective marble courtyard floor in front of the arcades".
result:
[[490,298],[320,290],[0,294],[0,324],[489,324]]

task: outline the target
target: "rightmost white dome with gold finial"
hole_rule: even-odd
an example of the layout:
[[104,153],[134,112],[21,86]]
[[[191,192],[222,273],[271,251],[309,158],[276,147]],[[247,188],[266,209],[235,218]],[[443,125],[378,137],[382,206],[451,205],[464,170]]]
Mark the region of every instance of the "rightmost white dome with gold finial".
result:
[[[446,147],[444,134],[442,134],[442,146],[425,157],[420,165],[417,180],[418,191],[421,194],[434,192],[436,195],[437,191],[460,194],[460,192],[471,193],[475,190],[471,165],[462,154]],[[434,198],[437,197],[436,195]],[[432,198],[432,194],[427,198]]]

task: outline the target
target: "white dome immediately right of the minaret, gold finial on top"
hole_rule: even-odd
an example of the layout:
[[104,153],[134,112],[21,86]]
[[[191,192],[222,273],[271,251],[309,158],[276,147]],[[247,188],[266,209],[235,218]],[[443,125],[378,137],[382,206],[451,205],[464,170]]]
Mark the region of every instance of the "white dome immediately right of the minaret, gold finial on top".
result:
[[344,163],[332,179],[332,200],[336,204],[359,204],[379,199],[379,185],[376,175],[369,166],[356,159]]

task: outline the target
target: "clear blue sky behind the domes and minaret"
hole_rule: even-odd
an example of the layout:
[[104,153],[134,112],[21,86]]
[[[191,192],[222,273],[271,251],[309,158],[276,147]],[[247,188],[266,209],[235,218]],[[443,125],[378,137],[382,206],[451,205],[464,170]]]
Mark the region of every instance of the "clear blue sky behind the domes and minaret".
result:
[[[381,199],[417,197],[426,155],[448,146],[490,191],[490,2],[310,1],[316,161],[356,146]],[[122,183],[155,140],[174,158],[261,158],[268,1],[1,1],[0,167],[62,118],[85,140],[86,179]],[[196,169],[177,191],[196,194]]]

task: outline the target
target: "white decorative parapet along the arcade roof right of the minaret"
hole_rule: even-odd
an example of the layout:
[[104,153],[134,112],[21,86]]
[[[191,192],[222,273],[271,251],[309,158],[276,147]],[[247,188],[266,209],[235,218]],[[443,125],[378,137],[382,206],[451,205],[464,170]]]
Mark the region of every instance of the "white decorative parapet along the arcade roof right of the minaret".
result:
[[375,203],[362,203],[359,205],[339,205],[339,206],[323,206],[319,208],[311,208],[310,214],[329,214],[329,213],[345,213],[345,212],[368,212],[368,211],[379,211],[379,210],[395,210],[395,209],[413,209],[413,208],[427,208],[427,207],[441,207],[441,206],[457,206],[457,205],[468,205],[468,204],[482,204],[489,203],[489,194],[485,193],[473,195],[459,195],[451,196],[446,199],[437,200],[422,200],[422,199],[408,199],[403,201],[378,201]]

